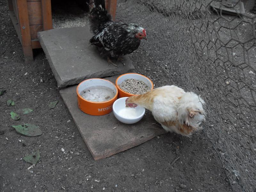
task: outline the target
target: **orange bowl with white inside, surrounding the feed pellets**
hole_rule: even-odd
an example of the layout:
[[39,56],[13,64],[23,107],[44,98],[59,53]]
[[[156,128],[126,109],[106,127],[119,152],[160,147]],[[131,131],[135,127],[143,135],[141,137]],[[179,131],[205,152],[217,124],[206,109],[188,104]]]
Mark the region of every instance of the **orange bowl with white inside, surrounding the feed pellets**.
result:
[[120,89],[120,87],[118,86],[119,84],[124,82],[126,79],[138,79],[138,80],[141,80],[141,81],[143,81],[145,84],[147,84],[149,86],[150,90],[154,89],[154,84],[153,84],[153,82],[148,77],[146,77],[144,75],[140,75],[138,73],[125,73],[123,75],[120,75],[116,79],[116,87],[118,89],[118,98],[134,96],[134,94],[125,92],[122,89]]

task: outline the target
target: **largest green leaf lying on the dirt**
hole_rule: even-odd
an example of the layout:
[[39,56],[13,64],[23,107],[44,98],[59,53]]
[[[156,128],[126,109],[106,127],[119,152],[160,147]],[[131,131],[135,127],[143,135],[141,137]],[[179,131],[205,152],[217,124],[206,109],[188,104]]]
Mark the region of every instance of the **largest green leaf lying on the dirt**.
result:
[[28,137],[35,137],[43,134],[41,129],[33,124],[12,125],[12,127],[15,128],[16,132]]

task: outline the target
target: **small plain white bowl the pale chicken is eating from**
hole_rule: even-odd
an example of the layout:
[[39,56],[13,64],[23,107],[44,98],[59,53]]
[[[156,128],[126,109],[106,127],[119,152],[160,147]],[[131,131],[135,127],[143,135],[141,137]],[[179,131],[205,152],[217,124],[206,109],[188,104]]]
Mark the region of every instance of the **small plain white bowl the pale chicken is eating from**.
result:
[[138,121],[140,121],[140,119],[142,119],[142,117],[145,114],[145,108],[144,107],[141,107],[141,106],[135,107],[136,114],[137,114],[137,117],[135,117],[135,118],[124,118],[124,117],[119,115],[120,110],[125,108],[125,100],[127,98],[128,97],[122,97],[122,98],[117,99],[114,102],[114,104],[113,104],[113,113],[114,113],[115,117],[119,121],[121,121],[122,123],[125,123],[125,124],[137,123]]

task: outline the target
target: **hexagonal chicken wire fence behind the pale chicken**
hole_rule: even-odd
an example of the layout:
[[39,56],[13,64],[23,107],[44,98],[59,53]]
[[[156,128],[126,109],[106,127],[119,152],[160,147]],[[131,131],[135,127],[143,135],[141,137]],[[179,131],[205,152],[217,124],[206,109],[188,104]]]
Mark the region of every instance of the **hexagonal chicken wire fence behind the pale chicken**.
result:
[[206,101],[204,135],[218,153],[233,191],[256,191],[255,15],[248,10],[224,14],[225,9],[241,8],[241,2],[225,0],[132,2],[147,18],[149,40],[161,44],[149,50],[151,61],[173,84]]

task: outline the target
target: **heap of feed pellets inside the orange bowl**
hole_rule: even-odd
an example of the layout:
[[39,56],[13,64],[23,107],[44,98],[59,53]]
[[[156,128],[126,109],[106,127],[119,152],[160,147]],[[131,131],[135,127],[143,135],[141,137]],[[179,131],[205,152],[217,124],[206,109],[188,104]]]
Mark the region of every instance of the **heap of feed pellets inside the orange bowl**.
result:
[[145,92],[150,90],[149,86],[145,84],[143,81],[138,79],[126,79],[121,84],[118,84],[120,89],[124,90],[125,92],[134,94],[134,95],[141,95]]

